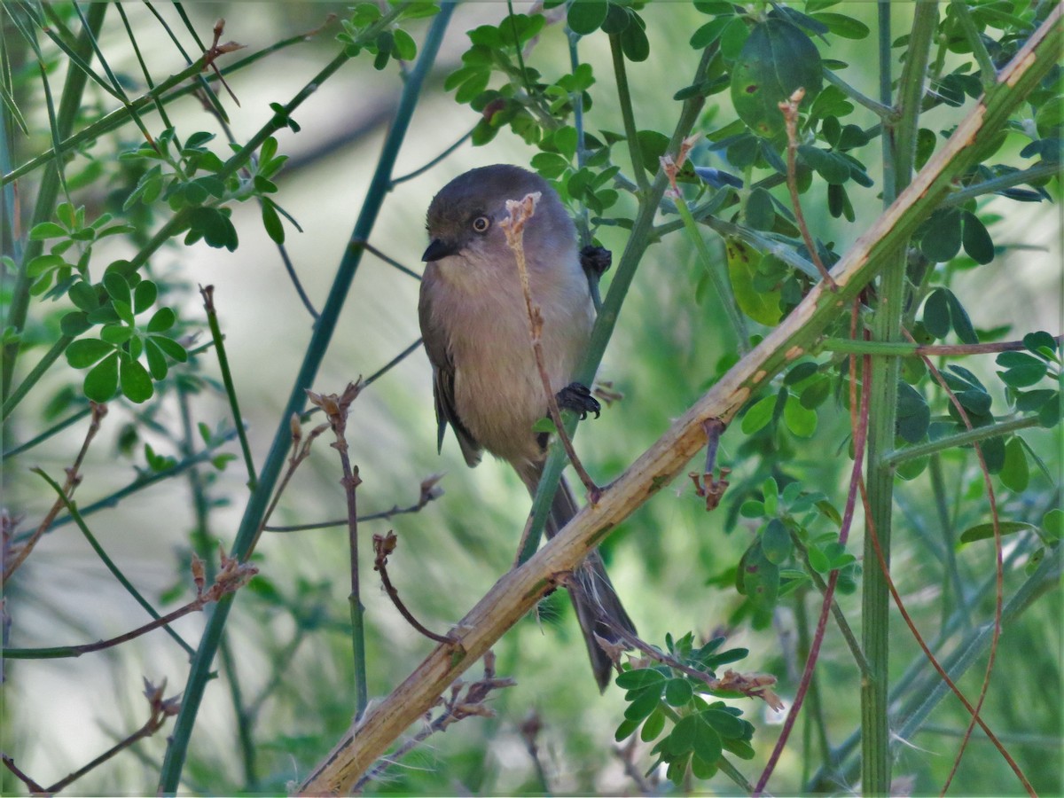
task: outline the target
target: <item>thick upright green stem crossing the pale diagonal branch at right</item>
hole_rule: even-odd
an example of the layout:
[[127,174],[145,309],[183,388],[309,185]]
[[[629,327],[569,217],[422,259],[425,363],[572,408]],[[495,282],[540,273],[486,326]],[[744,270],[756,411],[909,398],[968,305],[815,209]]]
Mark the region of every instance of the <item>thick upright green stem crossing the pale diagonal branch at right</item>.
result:
[[[880,52],[881,64],[885,61],[888,71],[885,76],[880,76],[881,90],[890,86],[891,46],[890,29],[886,27],[890,22],[888,9],[886,14],[882,14],[883,5],[880,5]],[[890,204],[912,177],[925,70],[937,17],[936,2],[924,2],[915,6],[905,66],[898,88],[899,116],[897,123],[890,128],[892,135],[884,137],[884,164],[893,165],[893,169],[884,167],[884,204]],[[887,49],[885,60],[882,57],[883,48]],[[881,98],[885,99],[887,98]],[[879,283],[879,304],[872,320],[872,340],[901,339],[907,250],[908,244],[903,242],[898,247],[893,263],[883,270]],[[871,368],[866,478],[868,529],[864,542],[864,556],[868,567],[864,571],[861,608],[862,647],[870,671],[861,684],[861,785],[865,795],[887,795],[891,791],[891,733],[887,725],[891,597],[886,575],[875,565],[878,559],[871,530],[875,530],[879,538],[890,567],[894,468],[883,461],[882,455],[894,446],[900,365],[898,358],[876,358]]]

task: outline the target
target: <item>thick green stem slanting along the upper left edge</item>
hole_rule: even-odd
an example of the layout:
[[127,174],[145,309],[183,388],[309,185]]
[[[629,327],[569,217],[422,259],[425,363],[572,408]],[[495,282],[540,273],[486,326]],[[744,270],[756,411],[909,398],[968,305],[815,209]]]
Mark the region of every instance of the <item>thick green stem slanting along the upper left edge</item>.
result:
[[[103,24],[103,15],[107,11],[107,3],[92,3],[88,9],[86,27],[82,29],[74,46],[76,52],[83,59],[88,59],[93,53],[93,40],[99,33]],[[85,90],[85,82],[88,76],[79,69],[74,64],[67,66],[66,83],[63,86],[63,96],[60,99],[59,115],[55,120],[56,135],[59,138],[66,138],[70,135],[78,112],[81,110],[81,97]],[[37,199],[33,206],[33,218],[30,228],[48,221],[52,217],[55,206],[55,198],[59,197],[61,178],[59,170],[59,159],[56,163],[49,164],[45,169],[40,187],[37,189]],[[15,276],[15,283],[12,286],[11,305],[7,318],[3,326],[21,331],[26,325],[26,314],[30,306],[30,276],[27,267],[34,257],[39,255],[44,249],[43,240],[27,242],[22,252],[21,262],[18,265],[18,273]],[[3,363],[0,368],[0,394],[7,398],[11,390],[11,382],[15,375],[15,362],[18,360],[19,344],[15,340],[3,348]]]

